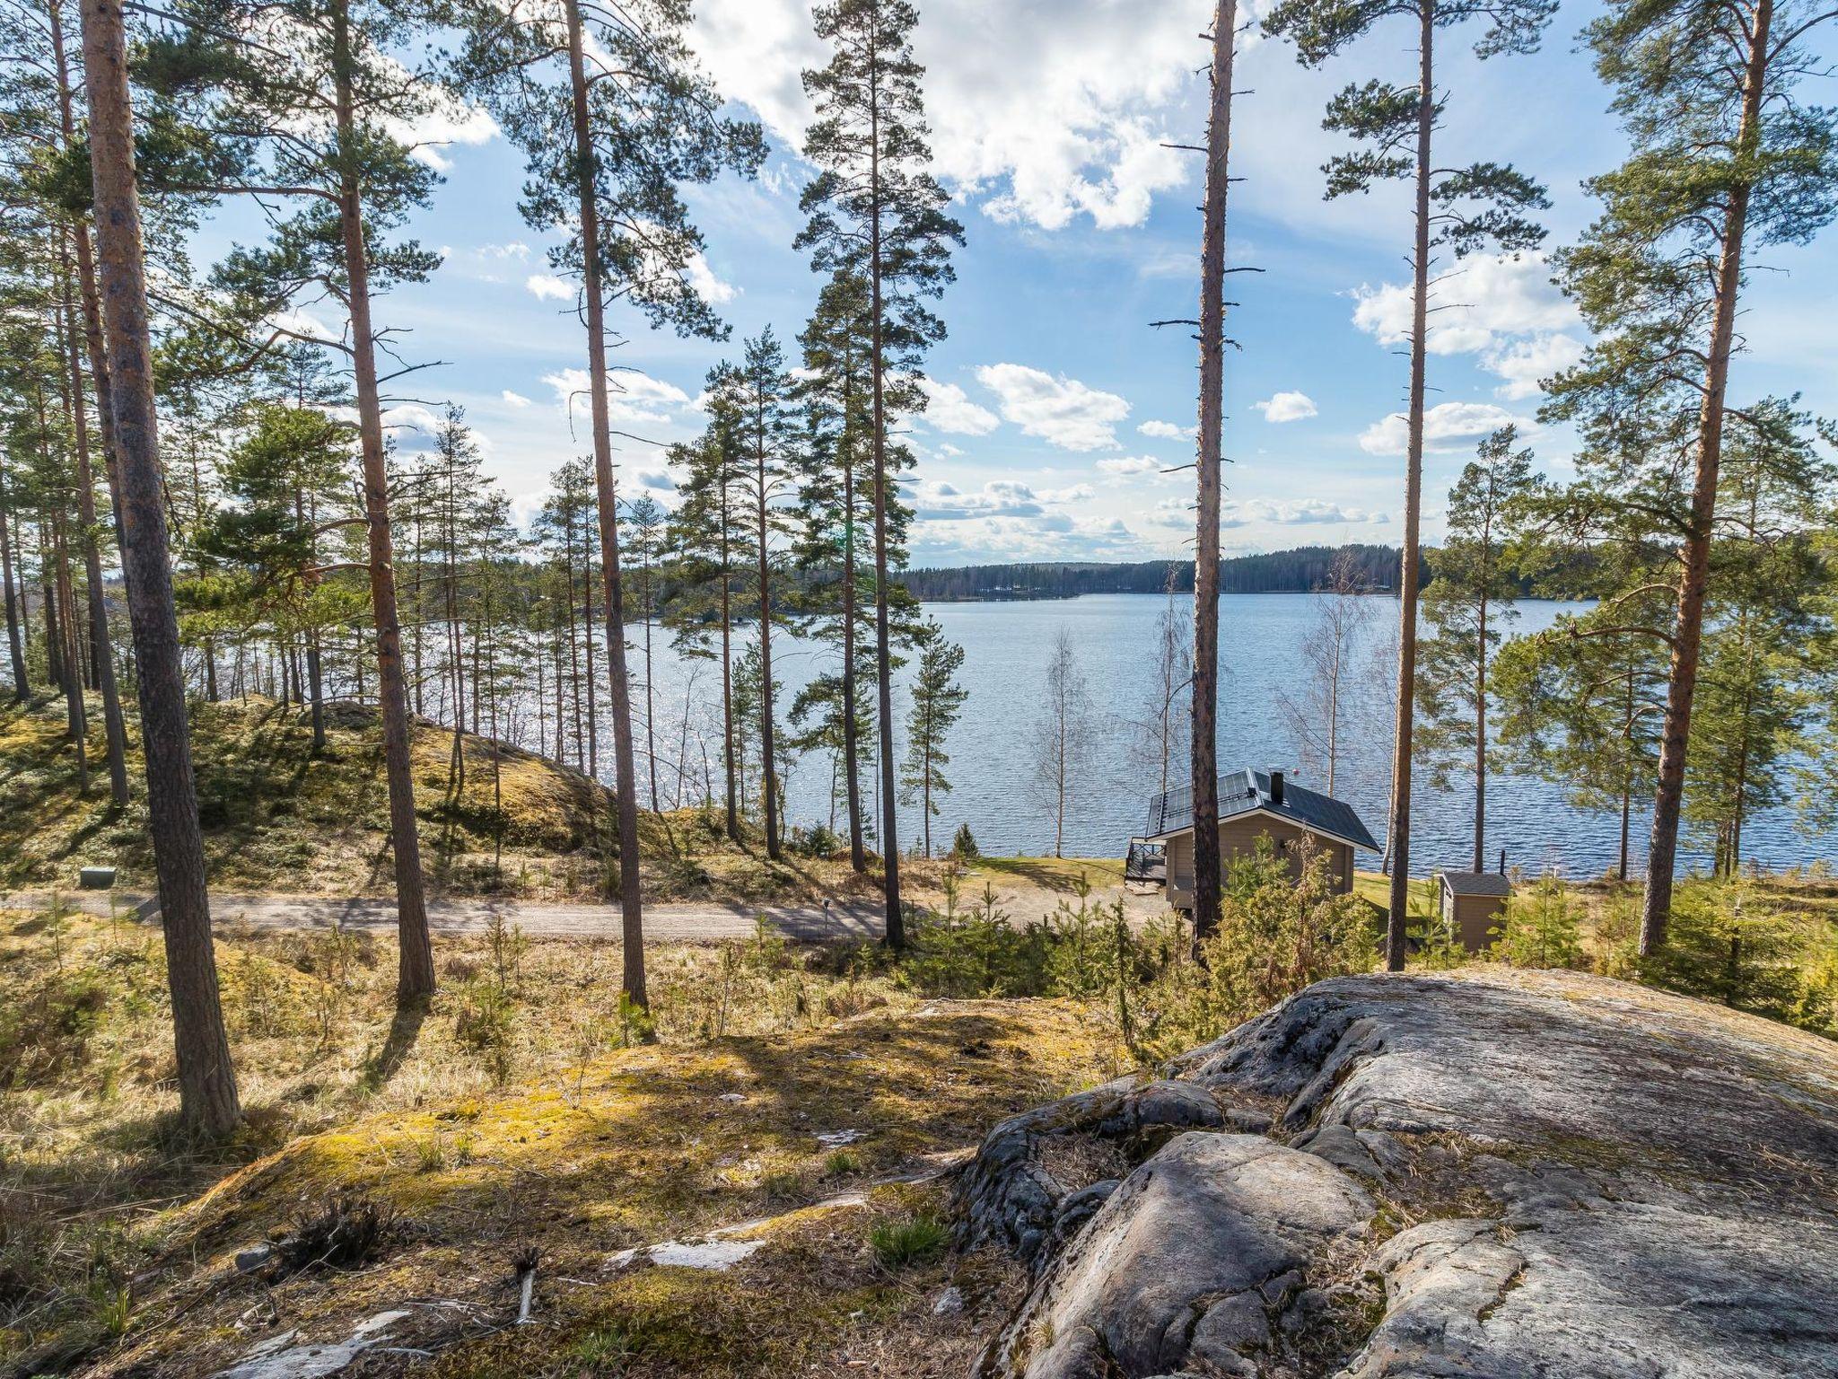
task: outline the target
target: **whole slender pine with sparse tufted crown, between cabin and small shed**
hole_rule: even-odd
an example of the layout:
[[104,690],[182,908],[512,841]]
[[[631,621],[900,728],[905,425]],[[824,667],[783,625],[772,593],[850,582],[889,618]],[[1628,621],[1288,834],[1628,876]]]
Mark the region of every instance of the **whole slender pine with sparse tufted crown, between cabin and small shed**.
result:
[[1529,53],[1538,46],[1557,0],[1279,0],[1265,17],[1265,31],[1296,42],[1305,66],[1318,66],[1366,37],[1393,15],[1417,22],[1417,81],[1397,86],[1371,79],[1353,83],[1327,103],[1325,129],[1364,147],[1331,158],[1327,195],[1371,191],[1382,180],[1408,178],[1415,191],[1412,245],[1410,403],[1404,460],[1404,550],[1399,574],[1397,726],[1391,745],[1391,811],[1386,844],[1391,851],[1391,917],[1386,930],[1386,967],[1404,967],[1404,917],[1410,899],[1410,781],[1417,688],[1417,585],[1423,517],[1423,417],[1428,388],[1432,267],[1437,248],[1456,259],[1498,246],[1503,252],[1537,248],[1544,230],[1529,219],[1549,200],[1544,188],[1511,165],[1476,162],[1435,167],[1432,136],[1443,114],[1435,96],[1435,31],[1487,20],[1474,44],[1478,57]]

